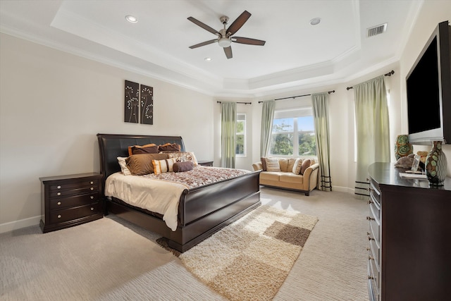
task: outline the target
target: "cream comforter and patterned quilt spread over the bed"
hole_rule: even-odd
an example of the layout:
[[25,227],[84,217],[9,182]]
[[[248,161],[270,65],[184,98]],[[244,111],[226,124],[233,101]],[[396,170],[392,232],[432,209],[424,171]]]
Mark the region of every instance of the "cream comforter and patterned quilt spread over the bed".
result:
[[163,214],[163,221],[177,230],[178,202],[185,189],[227,180],[249,171],[231,168],[196,166],[182,173],[154,173],[145,176],[124,176],[113,173],[106,179],[106,197],[116,197],[135,207]]

